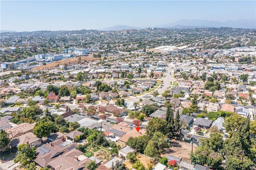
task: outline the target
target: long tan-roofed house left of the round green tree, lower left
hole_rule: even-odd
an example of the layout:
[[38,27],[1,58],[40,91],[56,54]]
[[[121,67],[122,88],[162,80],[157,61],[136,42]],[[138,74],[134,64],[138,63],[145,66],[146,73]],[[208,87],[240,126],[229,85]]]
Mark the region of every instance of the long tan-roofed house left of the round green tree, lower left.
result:
[[14,139],[28,132],[32,132],[35,125],[36,123],[21,123],[15,127],[6,128],[4,131],[7,133],[10,139]]

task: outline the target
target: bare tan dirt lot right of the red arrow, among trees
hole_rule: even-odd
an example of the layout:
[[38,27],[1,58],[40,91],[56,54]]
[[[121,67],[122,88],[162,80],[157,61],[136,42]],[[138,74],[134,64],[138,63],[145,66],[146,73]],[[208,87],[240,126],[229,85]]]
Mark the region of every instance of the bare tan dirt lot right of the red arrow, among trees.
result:
[[[166,154],[163,154],[161,156],[166,157],[168,154],[175,156],[177,158],[188,158],[189,154],[191,152],[192,146],[189,142],[184,141],[178,141],[178,140],[171,140],[170,142],[170,148],[166,149]],[[193,144],[193,151],[196,148],[196,144]]]

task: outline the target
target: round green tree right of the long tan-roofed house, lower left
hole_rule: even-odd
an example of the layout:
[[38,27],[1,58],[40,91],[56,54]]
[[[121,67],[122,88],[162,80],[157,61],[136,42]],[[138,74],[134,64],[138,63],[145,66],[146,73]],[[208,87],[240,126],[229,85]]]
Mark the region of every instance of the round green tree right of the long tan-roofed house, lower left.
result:
[[33,133],[39,138],[47,137],[50,135],[52,128],[49,122],[38,122],[33,128]]

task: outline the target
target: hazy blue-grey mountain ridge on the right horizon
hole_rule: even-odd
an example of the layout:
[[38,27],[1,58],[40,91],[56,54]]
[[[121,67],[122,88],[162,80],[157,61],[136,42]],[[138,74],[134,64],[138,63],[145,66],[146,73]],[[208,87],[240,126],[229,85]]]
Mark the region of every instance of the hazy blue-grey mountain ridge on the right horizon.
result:
[[204,27],[232,27],[256,29],[255,20],[228,20],[225,22],[210,20],[179,20],[168,24],[160,24],[159,28],[204,28]]

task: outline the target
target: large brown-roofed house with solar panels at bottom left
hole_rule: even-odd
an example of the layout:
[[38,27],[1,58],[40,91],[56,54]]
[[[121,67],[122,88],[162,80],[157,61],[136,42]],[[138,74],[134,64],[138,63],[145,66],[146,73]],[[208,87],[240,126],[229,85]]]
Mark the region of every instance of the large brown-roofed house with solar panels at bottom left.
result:
[[[37,154],[36,154],[36,159],[34,159],[34,162],[36,162],[38,165],[40,165],[43,168],[48,166],[52,166],[53,168],[56,168],[59,165],[63,165],[62,160],[56,160],[57,158],[60,157],[60,155],[64,156],[66,153],[68,153],[68,155],[72,156],[72,159],[74,159],[73,155],[77,156],[77,154],[72,154],[70,152],[74,150],[77,146],[78,144],[76,143],[72,143],[62,139],[54,140],[53,142],[43,144],[42,146],[36,149]],[[79,151],[79,153],[81,153],[81,151]],[[55,166],[55,164],[57,165]],[[68,162],[68,164],[70,163]],[[58,168],[58,169],[61,169],[61,168]]]

